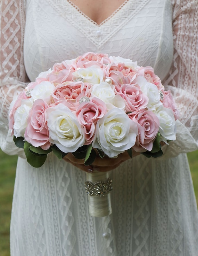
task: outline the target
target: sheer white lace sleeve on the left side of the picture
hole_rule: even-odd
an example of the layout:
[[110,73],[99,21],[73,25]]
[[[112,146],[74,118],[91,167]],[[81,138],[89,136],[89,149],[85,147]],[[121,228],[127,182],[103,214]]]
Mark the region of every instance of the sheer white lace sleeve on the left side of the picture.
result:
[[23,155],[8,130],[10,102],[26,86],[23,62],[25,1],[0,1],[0,146],[7,154]]

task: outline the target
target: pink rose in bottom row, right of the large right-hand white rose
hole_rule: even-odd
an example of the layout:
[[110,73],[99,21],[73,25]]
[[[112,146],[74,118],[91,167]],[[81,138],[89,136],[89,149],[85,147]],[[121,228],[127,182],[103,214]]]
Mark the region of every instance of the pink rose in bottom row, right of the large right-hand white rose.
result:
[[138,135],[133,149],[137,152],[151,151],[159,131],[159,119],[152,112],[140,109],[128,114],[138,124]]

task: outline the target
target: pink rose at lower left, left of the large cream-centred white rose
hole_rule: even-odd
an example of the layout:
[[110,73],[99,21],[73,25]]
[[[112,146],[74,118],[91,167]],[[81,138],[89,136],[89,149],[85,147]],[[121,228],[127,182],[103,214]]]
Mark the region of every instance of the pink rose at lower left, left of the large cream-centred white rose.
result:
[[46,121],[46,109],[48,108],[49,106],[43,100],[35,100],[29,112],[24,135],[27,142],[34,147],[41,147],[44,150],[47,150],[51,145]]

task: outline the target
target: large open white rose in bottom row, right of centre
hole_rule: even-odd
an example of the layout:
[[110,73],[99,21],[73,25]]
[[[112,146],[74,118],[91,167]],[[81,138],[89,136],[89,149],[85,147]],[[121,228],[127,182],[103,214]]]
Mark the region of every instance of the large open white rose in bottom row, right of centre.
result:
[[98,120],[92,146],[115,157],[134,146],[137,134],[137,124],[122,109],[113,108]]

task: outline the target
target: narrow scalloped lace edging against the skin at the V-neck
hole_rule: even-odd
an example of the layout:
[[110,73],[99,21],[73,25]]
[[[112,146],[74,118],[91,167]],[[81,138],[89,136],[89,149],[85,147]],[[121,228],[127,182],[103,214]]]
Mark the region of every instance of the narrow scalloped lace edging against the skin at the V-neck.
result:
[[90,21],[93,25],[97,26],[98,28],[101,27],[103,24],[105,24],[107,21],[111,20],[122,8],[124,8],[129,2],[130,0],[125,0],[122,5],[120,5],[115,11],[113,11],[113,13],[107,17],[104,21],[102,21],[100,24],[98,24],[97,22],[93,21],[88,15],[84,14],[83,11],[81,11],[81,9],[75,5],[75,3],[71,2],[70,0],[66,0],[69,5],[71,5],[77,12],[79,12],[79,14],[81,14],[82,16],[84,16],[84,18],[88,21]]

